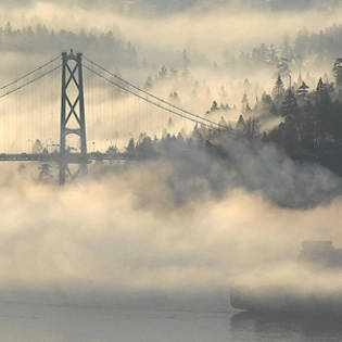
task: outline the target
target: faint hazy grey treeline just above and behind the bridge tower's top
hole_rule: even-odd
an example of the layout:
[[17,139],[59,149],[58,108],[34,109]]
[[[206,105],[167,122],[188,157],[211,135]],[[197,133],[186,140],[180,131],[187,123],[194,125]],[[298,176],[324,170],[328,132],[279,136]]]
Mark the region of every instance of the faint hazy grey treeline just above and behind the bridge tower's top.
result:
[[53,30],[45,25],[13,28],[11,23],[0,26],[0,51],[18,53],[47,53],[64,51],[74,48],[81,52],[94,52],[99,59],[105,58],[111,65],[119,64],[135,66],[138,63],[137,50],[128,41],[123,41],[113,31],[103,34],[90,34],[81,30]]

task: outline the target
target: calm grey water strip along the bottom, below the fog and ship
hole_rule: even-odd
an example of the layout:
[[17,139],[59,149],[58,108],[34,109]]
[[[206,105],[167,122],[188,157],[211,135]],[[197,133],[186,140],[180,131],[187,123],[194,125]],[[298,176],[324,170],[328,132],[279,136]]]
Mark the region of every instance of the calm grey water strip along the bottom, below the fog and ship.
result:
[[0,341],[342,341],[342,319],[1,303]]

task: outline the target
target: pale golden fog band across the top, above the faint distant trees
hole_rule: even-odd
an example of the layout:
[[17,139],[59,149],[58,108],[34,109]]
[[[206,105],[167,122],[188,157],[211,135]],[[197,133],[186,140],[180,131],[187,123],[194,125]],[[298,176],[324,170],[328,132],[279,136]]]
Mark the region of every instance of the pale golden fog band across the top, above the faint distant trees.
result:
[[[195,10],[183,1],[167,1],[179,8],[179,11],[168,11],[167,16],[145,13],[153,1],[140,0],[136,4],[139,10],[125,12],[118,2],[99,1],[1,1],[0,22],[8,20],[15,26],[42,23],[51,28],[92,31],[114,29],[125,39],[138,45],[139,51],[153,48],[155,51],[179,50],[183,48],[199,50],[214,59],[221,56],[224,49],[245,49],[261,42],[281,41],[286,34],[295,34],[304,26],[317,31],[333,23],[340,23],[340,10],[320,11],[316,8],[302,11],[286,10],[274,13],[261,9],[236,11],[226,8],[225,1],[211,2],[211,11]],[[283,2],[283,1],[282,1]],[[288,3],[288,1],[286,1]],[[326,2],[326,1],[325,1]],[[177,4],[178,3],[178,4]],[[293,2],[301,3],[301,2]],[[203,5],[203,3],[202,3]],[[134,1],[131,2],[134,7]],[[241,5],[238,5],[241,8]],[[151,17],[152,15],[152,17]],[[101,20],[99,20],[101,18]],[[157,28],[157,29],[156,29]]]

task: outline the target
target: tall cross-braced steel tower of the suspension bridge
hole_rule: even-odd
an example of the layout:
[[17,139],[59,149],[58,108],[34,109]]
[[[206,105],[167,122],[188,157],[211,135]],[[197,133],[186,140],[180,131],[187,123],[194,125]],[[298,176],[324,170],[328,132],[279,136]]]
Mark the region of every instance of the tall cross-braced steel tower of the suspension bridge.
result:
[[[79,157],[73,157],[72,149],[67,145],[69,135],[78,140]],[[75,154],[75,153],[74,153]],[[60,185],[67,177],[76,178],[87,173],[87,137],[85,117],[85,96],[83,78],[83,54],[62,52],[62,106],[61,106],[61,140],[60,140]],[[69,164],[78,165],[75,173]]]

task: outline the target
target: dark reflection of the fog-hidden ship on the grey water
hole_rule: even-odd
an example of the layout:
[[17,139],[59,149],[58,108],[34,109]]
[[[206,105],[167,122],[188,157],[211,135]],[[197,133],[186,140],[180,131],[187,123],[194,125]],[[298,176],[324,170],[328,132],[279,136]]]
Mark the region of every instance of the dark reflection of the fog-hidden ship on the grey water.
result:
[[342,341],[342,316],[239,313],[231,317],[233,341]]

